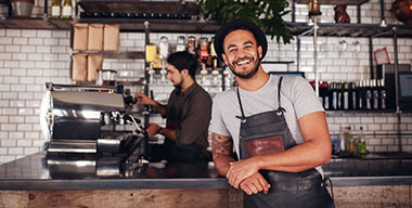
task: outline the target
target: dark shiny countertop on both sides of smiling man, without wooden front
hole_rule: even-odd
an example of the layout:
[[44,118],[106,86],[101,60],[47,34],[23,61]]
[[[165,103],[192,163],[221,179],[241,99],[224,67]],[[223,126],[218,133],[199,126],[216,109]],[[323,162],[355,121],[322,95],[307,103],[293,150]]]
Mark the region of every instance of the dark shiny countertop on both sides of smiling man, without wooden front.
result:
[[[334,186],[412,184],[411,158],[335,158]],[[37,153],[0,166],[0,190],[229,188],[213,162],[121,164],[115,157]]]

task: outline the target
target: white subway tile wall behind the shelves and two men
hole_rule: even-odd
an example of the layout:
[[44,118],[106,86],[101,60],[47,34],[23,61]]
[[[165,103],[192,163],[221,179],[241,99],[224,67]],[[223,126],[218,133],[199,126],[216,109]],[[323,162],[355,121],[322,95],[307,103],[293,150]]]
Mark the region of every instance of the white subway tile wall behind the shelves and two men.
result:
[[[49,5],[51,0],[49,0]],[[391,1],[385,0],[385,16],[387,24],[399,24],[388,11]],[[43,1],[36,0],[33,17],[42,16]],[[333,5],[321,5],[322,23],[334,22]],[[0,16],[7,16],[7,8],[0,6]],[[357,8],[348,6],[347,12],[351,23],[357,23]],[[296,4],[296,22],[307,22],[308,9],[306,4]],[[292,20],[292,15],[285,17]],[[361,5],[361,23],[381,24],[381,4],[378,0],[370,0]],[[171,48],[176,48],[178,36],[195,36],[196,39],[213,35],[199,34],[151,34],[151,42],[158,43],[159,38],[169,38]],[[297,70],[297,40],[291,44],[278,43],[269,38],[269,50],[265,61],[294,61],[287,66],[289,70]],[[348,43],[342,50],[339,41]],[[313,38],[301,38],[300,72],[306,73],[308,79],[314,78]],[[370,78],[369,39],[353,37],[320,37],[318,70],[321,80],[352,81]],[[360,51],[356,49],[360,44]],[[389,57],[394,60],[394,44],[391,38],[374,38],[374,49],[386,48]],[[398,57],[401,64],[412,64],[412,39],[398,39]],[[144,34],[121,32],[120,51],[144,50]],[[37,30],[37,29],[0,29],[0,164],[29,155],[42,150],[44,136],[39,125],[39,106],[44,94],[44,83],[72,83],[69,78],[69,31],[68,30]],[[144,62],[142,60],[105,60],[104,69],[116,69],[120,78],[143,77]],[[285,66],[273,65],[275,69]],[[159,79],[160,75],[155,77]],[[198,82],[202,83],[199,75]],[[204,84],[216,94],[221,91],[220,79],[218,84]],[[126,86],[132,93],[142,91],[141,87]],[[151,87],[155,99],[166,103],[172,90],[170,82],[157,83]],[[401,115],[401,125],[398,117],[391,113],[342,113],[327,112],[327,123],[331,138],[339,136],[345,126],[350,126],[355,136],[362,127],[366,135],[370,152],[390,152],[399,150],[398,128],[402,130],[402,150],[412,152],[412,114]],[[164,125],[165,120],[158,116],[151,117],[151,121]]]

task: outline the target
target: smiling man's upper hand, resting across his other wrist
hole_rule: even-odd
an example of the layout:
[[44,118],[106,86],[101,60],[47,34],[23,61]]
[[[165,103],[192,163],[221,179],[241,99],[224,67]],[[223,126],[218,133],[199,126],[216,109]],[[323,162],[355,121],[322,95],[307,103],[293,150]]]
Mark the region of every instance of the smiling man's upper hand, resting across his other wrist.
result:
[[246,178],[252,177],[259,170],[256,161],[252,158],[230,162],[230,168],[226,178],[233,187],[239,188],[239,184]]

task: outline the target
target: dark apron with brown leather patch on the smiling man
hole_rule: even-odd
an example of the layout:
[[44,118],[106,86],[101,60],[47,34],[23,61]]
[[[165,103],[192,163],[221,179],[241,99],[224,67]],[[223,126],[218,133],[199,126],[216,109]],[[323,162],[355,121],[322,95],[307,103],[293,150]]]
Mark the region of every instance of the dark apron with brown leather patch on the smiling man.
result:
[[[245,117],[237,89],[237,100],[242,116],[240,131],[240,156],[245,159],[256,155],[282,152],[296,145],[287,127],[281,106],[281,83],[279,81],[279,107]],[[245,208],[330,208],[334,207],[322,176],[314,168],[302,172],[259,170],[271,185],[269,193],[244,194]]]

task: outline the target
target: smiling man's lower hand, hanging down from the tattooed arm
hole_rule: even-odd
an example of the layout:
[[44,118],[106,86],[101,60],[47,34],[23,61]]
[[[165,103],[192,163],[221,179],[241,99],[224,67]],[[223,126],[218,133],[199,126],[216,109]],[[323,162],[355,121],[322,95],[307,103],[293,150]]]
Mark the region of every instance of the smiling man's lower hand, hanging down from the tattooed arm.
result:
[[247,195],[257,194],[259,192],[268,194],[270,184],[259,172],[256,172],[252,177],[242,181],[240,188]]

